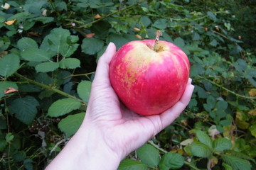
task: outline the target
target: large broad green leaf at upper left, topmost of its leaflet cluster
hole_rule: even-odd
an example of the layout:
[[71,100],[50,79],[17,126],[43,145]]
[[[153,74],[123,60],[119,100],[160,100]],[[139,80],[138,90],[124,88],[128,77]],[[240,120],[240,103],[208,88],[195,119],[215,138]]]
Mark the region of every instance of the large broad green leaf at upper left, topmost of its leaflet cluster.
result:
[[70,35],[69,30],[54,28],[43,39],[40,48],[48,52],[54,52],[55,55],[60,54],[63,57],[70,57],[78,49],[79,44],[75,43],[78,40],[78,36]]

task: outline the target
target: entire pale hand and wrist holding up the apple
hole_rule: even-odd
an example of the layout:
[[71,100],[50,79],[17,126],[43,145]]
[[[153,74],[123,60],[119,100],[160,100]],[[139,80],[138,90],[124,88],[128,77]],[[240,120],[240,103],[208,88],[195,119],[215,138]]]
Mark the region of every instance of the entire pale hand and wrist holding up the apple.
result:
[[117,169],[129,153],[170,125],[186,108],[194,86],[172,108],[159,115],[138,115],[119,102],[109,79],[110,61],[116,52],[110,42],[100,57],[85,119],[78,132],[46,169]]

